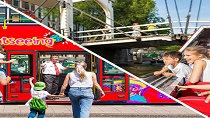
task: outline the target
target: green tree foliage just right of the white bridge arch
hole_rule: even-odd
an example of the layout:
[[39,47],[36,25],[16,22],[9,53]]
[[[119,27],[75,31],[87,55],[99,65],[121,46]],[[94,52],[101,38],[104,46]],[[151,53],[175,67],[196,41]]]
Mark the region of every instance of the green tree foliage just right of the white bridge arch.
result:
[[124,25],[148,23],[155,20],[156,10],[153,0],[115,0],[114,18]]

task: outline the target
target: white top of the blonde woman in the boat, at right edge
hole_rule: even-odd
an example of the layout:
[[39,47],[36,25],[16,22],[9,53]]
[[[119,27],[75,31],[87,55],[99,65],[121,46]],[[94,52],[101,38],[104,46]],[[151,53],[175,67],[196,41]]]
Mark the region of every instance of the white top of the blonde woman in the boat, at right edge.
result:
[[210,60],[208,59],[202,59],[206,62],[206,68],[203,71],[203,74],[201,75],[200,81],[201,82],[210,82]]

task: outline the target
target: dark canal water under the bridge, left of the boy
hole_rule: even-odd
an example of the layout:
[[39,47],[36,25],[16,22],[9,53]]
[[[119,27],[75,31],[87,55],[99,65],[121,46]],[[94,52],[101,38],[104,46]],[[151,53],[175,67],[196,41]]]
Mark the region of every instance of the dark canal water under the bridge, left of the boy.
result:
[[120,67],[136,75],[137,77],[140,77],[142,75],[160,70],[163,67],[163,65],[163,63],[152,64],[150,62],[145,62],[142,64],[133,64]]

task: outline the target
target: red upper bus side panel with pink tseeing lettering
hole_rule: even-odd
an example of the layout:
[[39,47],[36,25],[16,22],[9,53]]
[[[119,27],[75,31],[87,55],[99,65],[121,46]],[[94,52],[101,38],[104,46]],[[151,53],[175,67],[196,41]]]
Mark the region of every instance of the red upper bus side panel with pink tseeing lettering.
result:
[[9,25],[0,28],[0,45],[5,50],[73,50],[83,51],[77,45],[40,25]]

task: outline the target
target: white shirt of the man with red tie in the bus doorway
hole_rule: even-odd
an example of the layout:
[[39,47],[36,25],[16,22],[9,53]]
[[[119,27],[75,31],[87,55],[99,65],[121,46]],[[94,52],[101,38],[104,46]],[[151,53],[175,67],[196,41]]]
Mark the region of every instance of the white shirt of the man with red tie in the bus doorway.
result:
[[[43,74],[56,75],[55,66],[51,61],[45,62],[43,64],[45,64],[42,72]],[[61,72],[61,70],[65,68],[60,63],[56,63],[56,66],[58,67],[59,72]]]

